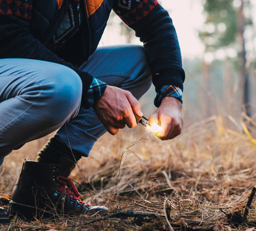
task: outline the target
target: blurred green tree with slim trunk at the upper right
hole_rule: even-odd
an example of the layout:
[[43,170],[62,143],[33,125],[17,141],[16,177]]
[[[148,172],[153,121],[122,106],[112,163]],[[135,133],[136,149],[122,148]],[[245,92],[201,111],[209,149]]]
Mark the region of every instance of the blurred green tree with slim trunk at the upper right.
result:
[[[250,0],[204,0],[204,12],[206,20],[202,30],[199,32],[201,40],[205,44],[206,54],[218,54],[222,59],[229,60],[228,48],[237,52],[237,60],[241,72],[242,103],[246,106],[246,112],[250,114],[249,108],[249,76],[247,70],[247,52],[245,29],[252,21],[245,17],[245,10],[250,8]],[[217,57],[218,58],[218,57]],[[203,62],[205,84],[208,86],[209,67]],[[225,62],[229,65],[229,62]]]

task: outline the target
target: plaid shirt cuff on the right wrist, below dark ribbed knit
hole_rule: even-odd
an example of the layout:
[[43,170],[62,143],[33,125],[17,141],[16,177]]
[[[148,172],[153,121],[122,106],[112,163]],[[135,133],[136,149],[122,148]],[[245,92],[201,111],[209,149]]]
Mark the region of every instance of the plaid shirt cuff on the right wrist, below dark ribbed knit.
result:
[[157,96],[154,101],[155,106],[159,107],[162,99],[166,96],[174,97],[183,103],[182,90],[176,86],[165,85],[157,92]]

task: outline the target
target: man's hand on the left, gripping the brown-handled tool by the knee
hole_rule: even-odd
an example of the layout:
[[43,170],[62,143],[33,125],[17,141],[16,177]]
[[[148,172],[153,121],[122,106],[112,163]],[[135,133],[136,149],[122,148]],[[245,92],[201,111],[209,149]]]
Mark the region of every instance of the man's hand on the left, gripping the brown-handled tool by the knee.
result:
[[[135,127],[139,121],[136,117],[143,114],[139,101],[129,92],[121,88],[107,86],[102,97],[93,107],[107,131],[115,135],[119,128]],[[135,117],[135,115],[138,115]]]

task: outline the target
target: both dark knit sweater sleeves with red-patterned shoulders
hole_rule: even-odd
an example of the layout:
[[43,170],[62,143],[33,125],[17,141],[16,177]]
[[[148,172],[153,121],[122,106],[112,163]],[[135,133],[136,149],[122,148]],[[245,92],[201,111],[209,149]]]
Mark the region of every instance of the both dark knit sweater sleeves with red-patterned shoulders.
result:
[[[24,3],[26,1],[0,0],[0,58],[38,59],[72,68],[83,82],[82,105],[90,107],[87,92],[94,78],[58,57],[32,36],[27,20],[31,7]],[[177,34],[168,12],[157,0],[114,0],[113,9],[144,43],[156,91],[169,85],[183,90],[185,72]],[[52,44],[57,40],[61,43],[61,36],[57,37],[51,40]]]

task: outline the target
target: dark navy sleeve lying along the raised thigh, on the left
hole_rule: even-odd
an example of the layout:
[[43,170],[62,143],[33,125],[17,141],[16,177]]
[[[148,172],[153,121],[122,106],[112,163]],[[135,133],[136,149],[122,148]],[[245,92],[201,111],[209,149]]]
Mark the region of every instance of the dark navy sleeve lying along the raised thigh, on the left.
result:
[[29,16],[16,14],[16,11],[13,12],[8,6],[0,8],[0,58],[37,59],[62,64],[73,69],[82,80],[82,105],[88,108],[87,91],[93,77],[86,72],[79,71],[71,63],[47,49],[32,36],[29,30]]

